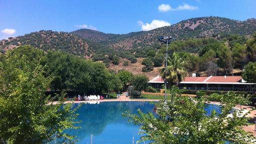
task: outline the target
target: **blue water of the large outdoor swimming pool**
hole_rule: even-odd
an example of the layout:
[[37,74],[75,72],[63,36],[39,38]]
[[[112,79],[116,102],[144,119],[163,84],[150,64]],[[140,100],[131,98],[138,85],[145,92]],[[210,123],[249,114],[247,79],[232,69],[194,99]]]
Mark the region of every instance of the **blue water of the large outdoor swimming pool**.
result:
[[[78,103],[73,104],[73,107]],[[143,112],[152,112],[154,104],[145,101],[122,101],[122,102],[101,102],[99,104],[82,104],[77,110],[81,120],[81,128],[68,130],[69,134],[76,135],[79,139],[77,143],[90,144],[92,136],[93,144],[131,144],[133,137],[134,142],[140,139],[138,134],[139,126],[129,122],[126,117],[122,116],[125,111],[137,113],[137,109]],[[210,104],[206,110],[207,114],[215,109],[220,112],[218,105]],[[142,142],[143,143],[143,142]]]

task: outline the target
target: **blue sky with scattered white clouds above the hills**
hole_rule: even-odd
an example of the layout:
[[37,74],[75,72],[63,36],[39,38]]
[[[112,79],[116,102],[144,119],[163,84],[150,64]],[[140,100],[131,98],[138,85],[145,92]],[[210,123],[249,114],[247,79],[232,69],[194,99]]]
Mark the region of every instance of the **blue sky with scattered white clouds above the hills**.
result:
[[207,16],[244,21],[256,18],[255,6],[256,0],[0,0],[0,40],[40,30],[126,34]]

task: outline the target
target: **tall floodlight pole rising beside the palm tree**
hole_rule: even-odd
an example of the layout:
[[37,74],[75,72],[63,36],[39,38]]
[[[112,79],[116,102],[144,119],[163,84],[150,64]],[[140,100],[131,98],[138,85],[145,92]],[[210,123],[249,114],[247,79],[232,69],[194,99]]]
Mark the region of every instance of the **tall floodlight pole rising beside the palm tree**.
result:
[[[166,43],[166,57],[165,57],[165,70],[167,70],[167,58],[168,58],[168,44],[170,44],[173,40],[176,41],[176,38],[168,37],[168,36],[160,36],[158,38],[160,42]],[[167,90],[167,80],[165,80],[165,100],[166,100],[166,90]]]

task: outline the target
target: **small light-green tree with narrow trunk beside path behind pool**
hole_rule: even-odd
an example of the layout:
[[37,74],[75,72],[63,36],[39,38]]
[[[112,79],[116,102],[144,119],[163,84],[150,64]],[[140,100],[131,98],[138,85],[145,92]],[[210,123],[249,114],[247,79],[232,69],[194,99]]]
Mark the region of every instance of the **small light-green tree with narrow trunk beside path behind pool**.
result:
[[117,73],[117,77],[121,80],[123,90],[134,78],[133,74],[126,70],[119,70]]

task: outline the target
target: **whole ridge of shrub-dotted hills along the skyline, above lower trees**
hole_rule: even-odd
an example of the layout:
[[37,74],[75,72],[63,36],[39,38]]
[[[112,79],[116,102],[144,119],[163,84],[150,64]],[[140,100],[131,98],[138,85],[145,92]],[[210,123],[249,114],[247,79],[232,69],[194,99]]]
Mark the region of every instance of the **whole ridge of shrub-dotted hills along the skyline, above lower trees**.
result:
[[[173,36],[178,40],[190,38],[225,37],[229,34],[251,35],[256,31],[256,19],[245,21],[222,17],[200,17],[183,20],[171,26],[151,31],[131,32],[128,34],[106,34],[89,29],[73,32],[39,31],[0,41],[0,50],[5,53],[19,45],[29,44],[43,50],[64,50],[75,55],[91,57],[105,51],[129,51],[159,45],[161,35]],[[89,44],[88,44],[89,43]]]

